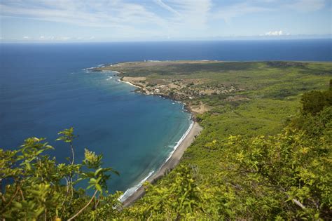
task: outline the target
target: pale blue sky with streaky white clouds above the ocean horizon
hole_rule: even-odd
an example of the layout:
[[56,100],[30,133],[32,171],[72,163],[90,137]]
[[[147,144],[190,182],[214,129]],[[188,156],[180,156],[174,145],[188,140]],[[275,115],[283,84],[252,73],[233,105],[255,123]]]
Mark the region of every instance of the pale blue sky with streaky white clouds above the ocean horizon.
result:
[[1,41],[327,36],[331,0],[0,0]]

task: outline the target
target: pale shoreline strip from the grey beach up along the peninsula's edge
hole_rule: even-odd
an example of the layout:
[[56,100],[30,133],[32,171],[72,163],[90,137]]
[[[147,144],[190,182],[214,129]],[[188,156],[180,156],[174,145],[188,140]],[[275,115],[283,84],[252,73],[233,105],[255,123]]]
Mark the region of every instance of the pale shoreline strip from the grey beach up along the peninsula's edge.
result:
[[[113,72],[113,71],[112,71]],[[116,75],[120,74],[119,72],[116,72]],[[131,83],[129,81],[123,81],[122,78],[118,79],[119,82],[127,83],[131,86],[134,86],[136,88],[141,88],[141,86],[137,86],[134,83]],[[145,93],[146,94],[146,93]],[[148,95],[148,94],[146,94]],[[153,94],[152,94],[153,95]],[[172,98],[168,98],[173,100]],[[177,100],[174,100],[177,102]],[[188,112],[191,113],[190,109],[186,108],[186,104],[183,103],[184,109],[186,109]],[[191,113],[193,115],[193,113]],[[144,179],[144,182],[150,182],[153,184],[156,180],[162,178],[163,175],[165,175],[166,172],[172,170],[177,164],[179,164],[179,161],[186,151],[186,149],[191,145],[191,143],[195,140],[195,138],[200,134],[202,131],[202,127],[196,122],[194,119],[193,123],[191,123],[191,126],[189,126],[188,130],[186,130],[186,133],[184,133],[184,137],[182,137],[179,140],[179,144],[177,147],[171,152],[170,156],[166,159],[165,163],[162,164],[162,166],[159,168],[157,172],[152,173],[151,175],[148,175],[147,179]],[[130,188],[129,188],[130,189]],[[138,187],[130,196],[128,196],[124,201],[121,203],[124,207],[130,206],[134,201],[137,201],[145,194],[145,189],[143,185]]]

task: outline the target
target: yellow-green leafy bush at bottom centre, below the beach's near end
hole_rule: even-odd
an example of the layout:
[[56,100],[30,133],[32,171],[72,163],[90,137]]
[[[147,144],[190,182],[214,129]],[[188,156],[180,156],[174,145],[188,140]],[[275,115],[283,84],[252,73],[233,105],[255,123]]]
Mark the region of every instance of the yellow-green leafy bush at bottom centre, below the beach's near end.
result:
[[195,183],[191,168],[179,166],[169,175],[172,182],[165,186],[146,183],[146,196],[138,206],[125,210],[125,215],[142,220],[194,218],[195,212],[202,210],[203,194]]

